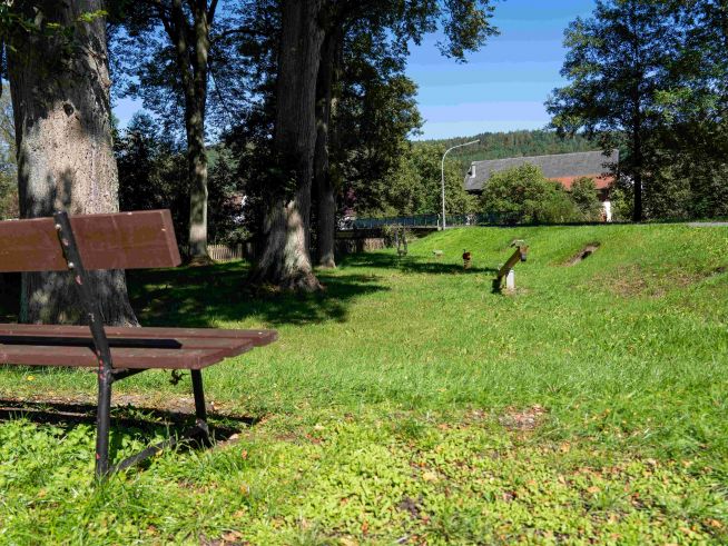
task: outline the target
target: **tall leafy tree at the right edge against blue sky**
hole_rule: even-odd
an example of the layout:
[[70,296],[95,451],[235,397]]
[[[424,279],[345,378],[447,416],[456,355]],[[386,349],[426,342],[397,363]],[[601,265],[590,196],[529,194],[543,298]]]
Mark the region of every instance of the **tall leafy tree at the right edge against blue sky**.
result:
[[565,31],[552,125],[622,149],[634,220],[726,214],[726,21],[720,0],[599,0]]

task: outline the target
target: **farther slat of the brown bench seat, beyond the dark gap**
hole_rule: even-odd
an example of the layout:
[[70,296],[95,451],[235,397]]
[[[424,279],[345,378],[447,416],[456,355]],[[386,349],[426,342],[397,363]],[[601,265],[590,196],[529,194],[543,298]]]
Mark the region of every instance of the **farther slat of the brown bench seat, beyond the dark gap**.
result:
[[[275,330],[226,330],[217,328],[126,328],[111,327],[105,328],[109,340],[114,338],[130,339],[177,339],[177,338],[199,338],[199,339],[240,339],[249,340],[254,347],[262,347],[275,341],[278,334]],[[91,338],[91,334],[86,326],[66,326],[66,325],[18,325],[0,324],[0,335],[32,335],[32,336],[73,336]]]

